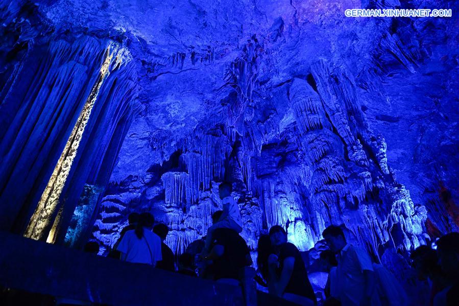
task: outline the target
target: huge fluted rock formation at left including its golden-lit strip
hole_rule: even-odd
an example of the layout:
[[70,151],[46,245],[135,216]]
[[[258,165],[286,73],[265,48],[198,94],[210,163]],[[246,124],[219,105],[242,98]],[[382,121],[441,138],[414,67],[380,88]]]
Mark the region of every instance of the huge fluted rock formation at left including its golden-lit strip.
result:
[[122,43],[30,27],[37,6],[14,5],[2,7],[5,33],[18,32],[2,52],[2,229],[63,241],[85,186],[105,189],[140,109],[135,69]]

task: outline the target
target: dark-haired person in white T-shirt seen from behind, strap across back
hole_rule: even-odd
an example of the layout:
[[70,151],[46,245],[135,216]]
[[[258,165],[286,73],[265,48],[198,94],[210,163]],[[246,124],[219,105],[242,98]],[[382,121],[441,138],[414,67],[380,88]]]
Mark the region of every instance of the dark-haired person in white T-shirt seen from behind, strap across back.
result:
[[135,229],[128,230],[117,247],[121,260],[156,266],[162,256],[161,239],[152,232],[154,222],[152,214],[140,214]]

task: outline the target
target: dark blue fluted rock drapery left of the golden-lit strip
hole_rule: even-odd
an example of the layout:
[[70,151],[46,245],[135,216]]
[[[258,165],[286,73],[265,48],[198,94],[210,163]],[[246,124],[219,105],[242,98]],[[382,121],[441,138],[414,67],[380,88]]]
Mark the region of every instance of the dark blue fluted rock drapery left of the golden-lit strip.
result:
[[[0,197],[5,203],[31,203],[30,206],[2,207],[8,212],[0,215],[10,216],[9,220],[2,222],[5,228],[11,229],[13,221],[17,223],[16,231],[23,231],[22,227],[27,225],[35,209],[33,205],[46,186],[46,181],[39,178],[52,175],[78,114],[85,102],[90,103],[87,97],[91,88],[96,88],[94,84],[97,84],[98,76],[88,75],[87,70],[96,70],[100,74],[100,66],[96,67],[104,61],[100,49],[98,42],[84,38],[71,45],[59,40],[51,43],[49,48],[37,46],[12,76],[15,81],[11,87],[3,89],[7,93],[2,102],[2,113],[8,114],[9,118],[6,120],[8,129],[0,139]],[[26,69],[29,62],[32,77]],[[31,86],[21,88],[22,83],[17,80],[25,76],[31,79]],[[49,86],[42,86],[45,83]],[[20,95],[13,94],[16,90]],[[27,193],[16,192],[19,185]]]

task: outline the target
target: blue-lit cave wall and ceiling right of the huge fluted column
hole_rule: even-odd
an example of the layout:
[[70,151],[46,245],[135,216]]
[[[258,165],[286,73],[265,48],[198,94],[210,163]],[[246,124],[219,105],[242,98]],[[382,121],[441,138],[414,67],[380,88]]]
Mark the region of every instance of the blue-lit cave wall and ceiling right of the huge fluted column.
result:
[[[268,13],[260,4],[269,25],[241,31],[234,51],[213,44],[202,48],[204,60],[183,48],[156,60],[162,67],[146,76],[156,91],[128,132],[94,236],[109,247],[130,212],[148,210],[170,226],[166,242],[180,253],[205,235],[223,179],[234,182],[252,248],[274,224],[304,251],[325,226],[345,224],[381,260],[386,249],[457,229],[457,113],[439,121],[431,107],[432,99],[444,112],[457,103],[454,21],[339,15],[356,5],[293,2]],[[182,30],[181,39],[194,35]],[[420,129],[444,137],[445,151]],[[439,196],[446,181],[450,204]]]

